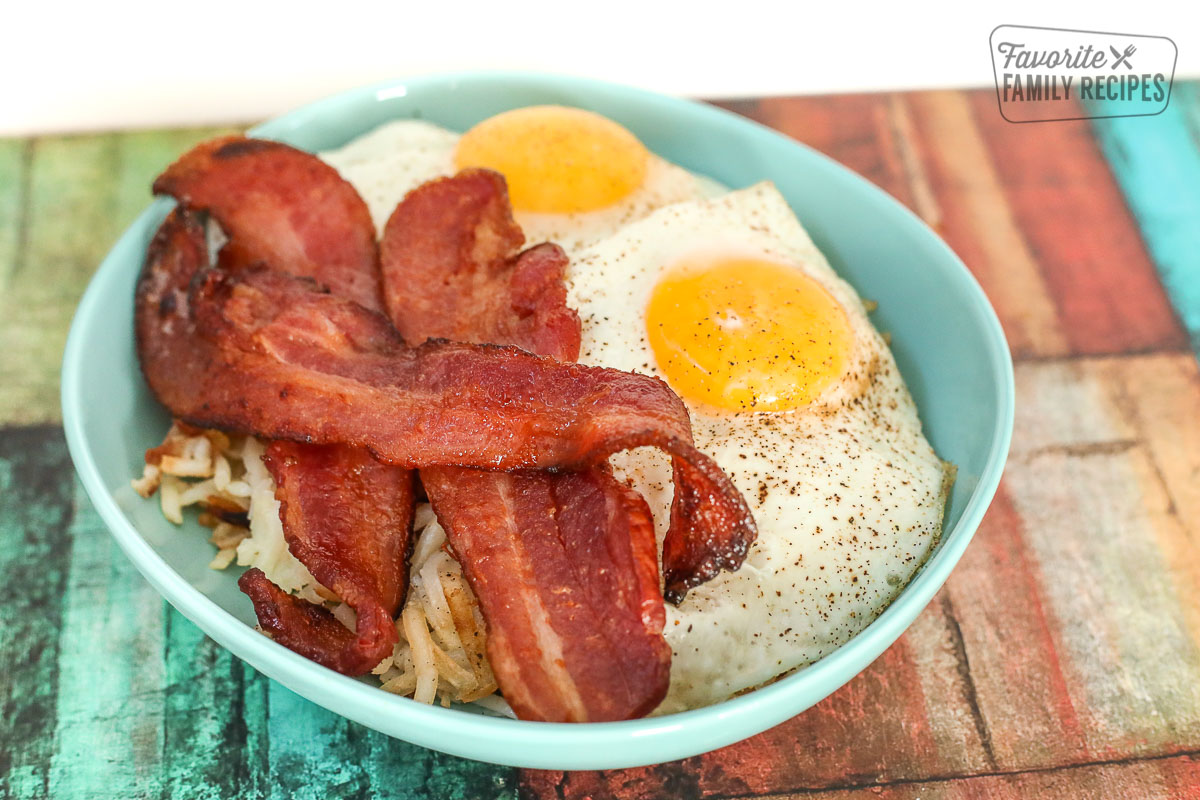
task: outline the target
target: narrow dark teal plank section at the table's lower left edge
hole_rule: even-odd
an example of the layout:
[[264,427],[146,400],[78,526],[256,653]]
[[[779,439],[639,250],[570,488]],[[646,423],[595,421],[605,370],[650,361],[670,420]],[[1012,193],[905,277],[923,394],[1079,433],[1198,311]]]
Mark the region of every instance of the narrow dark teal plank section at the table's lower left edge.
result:
[[[49,793],[74,469],[58,428],[0,435],[0,798]],[[79,669],[86,670],[82,663]]]

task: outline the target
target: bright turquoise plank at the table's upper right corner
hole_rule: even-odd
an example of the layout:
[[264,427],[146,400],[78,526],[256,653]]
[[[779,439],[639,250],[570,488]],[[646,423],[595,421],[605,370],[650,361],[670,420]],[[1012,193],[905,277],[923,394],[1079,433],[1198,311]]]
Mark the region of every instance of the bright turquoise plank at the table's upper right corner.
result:
[[[1090,103],[1090,110],[1104,113],[1104,104]],[[1092,126],[1200,355],[1200,83],[1176,84],[1158,116]]]

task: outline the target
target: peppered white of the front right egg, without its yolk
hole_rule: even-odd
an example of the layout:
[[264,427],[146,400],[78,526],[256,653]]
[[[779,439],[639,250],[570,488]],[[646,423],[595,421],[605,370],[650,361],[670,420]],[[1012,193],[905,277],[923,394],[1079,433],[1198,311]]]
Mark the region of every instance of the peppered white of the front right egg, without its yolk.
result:
[[[854,290],[769,184],[668,206],[581,251],[568,302],[580,361],[661,373],[644,309],[664,270],[694,253],[761,257],[821,283],[846,311],[853,353],[806,408],[724,411],[688,402],[696,445],[745,495],[758,540],[745,564],[667,607],[671,688],[656,712],[722,700],[816,661],[865,627],[908,583],[941,533],[947,469]],[[665,533],[671,469],[661,452],[618,453]]]

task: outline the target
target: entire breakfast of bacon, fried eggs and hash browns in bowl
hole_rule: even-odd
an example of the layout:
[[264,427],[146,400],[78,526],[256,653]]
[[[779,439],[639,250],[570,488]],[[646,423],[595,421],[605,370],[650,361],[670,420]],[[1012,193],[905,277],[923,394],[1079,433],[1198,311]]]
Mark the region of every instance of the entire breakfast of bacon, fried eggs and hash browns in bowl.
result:
[[140,488],[209,459],[164,510],[203,498],[276,640],[425,702],[628,718],[820,658],[924,563],[953,468],[769,185],[713,197],[545,107],[324,157],[186,155],[138,295],[185,426]]

